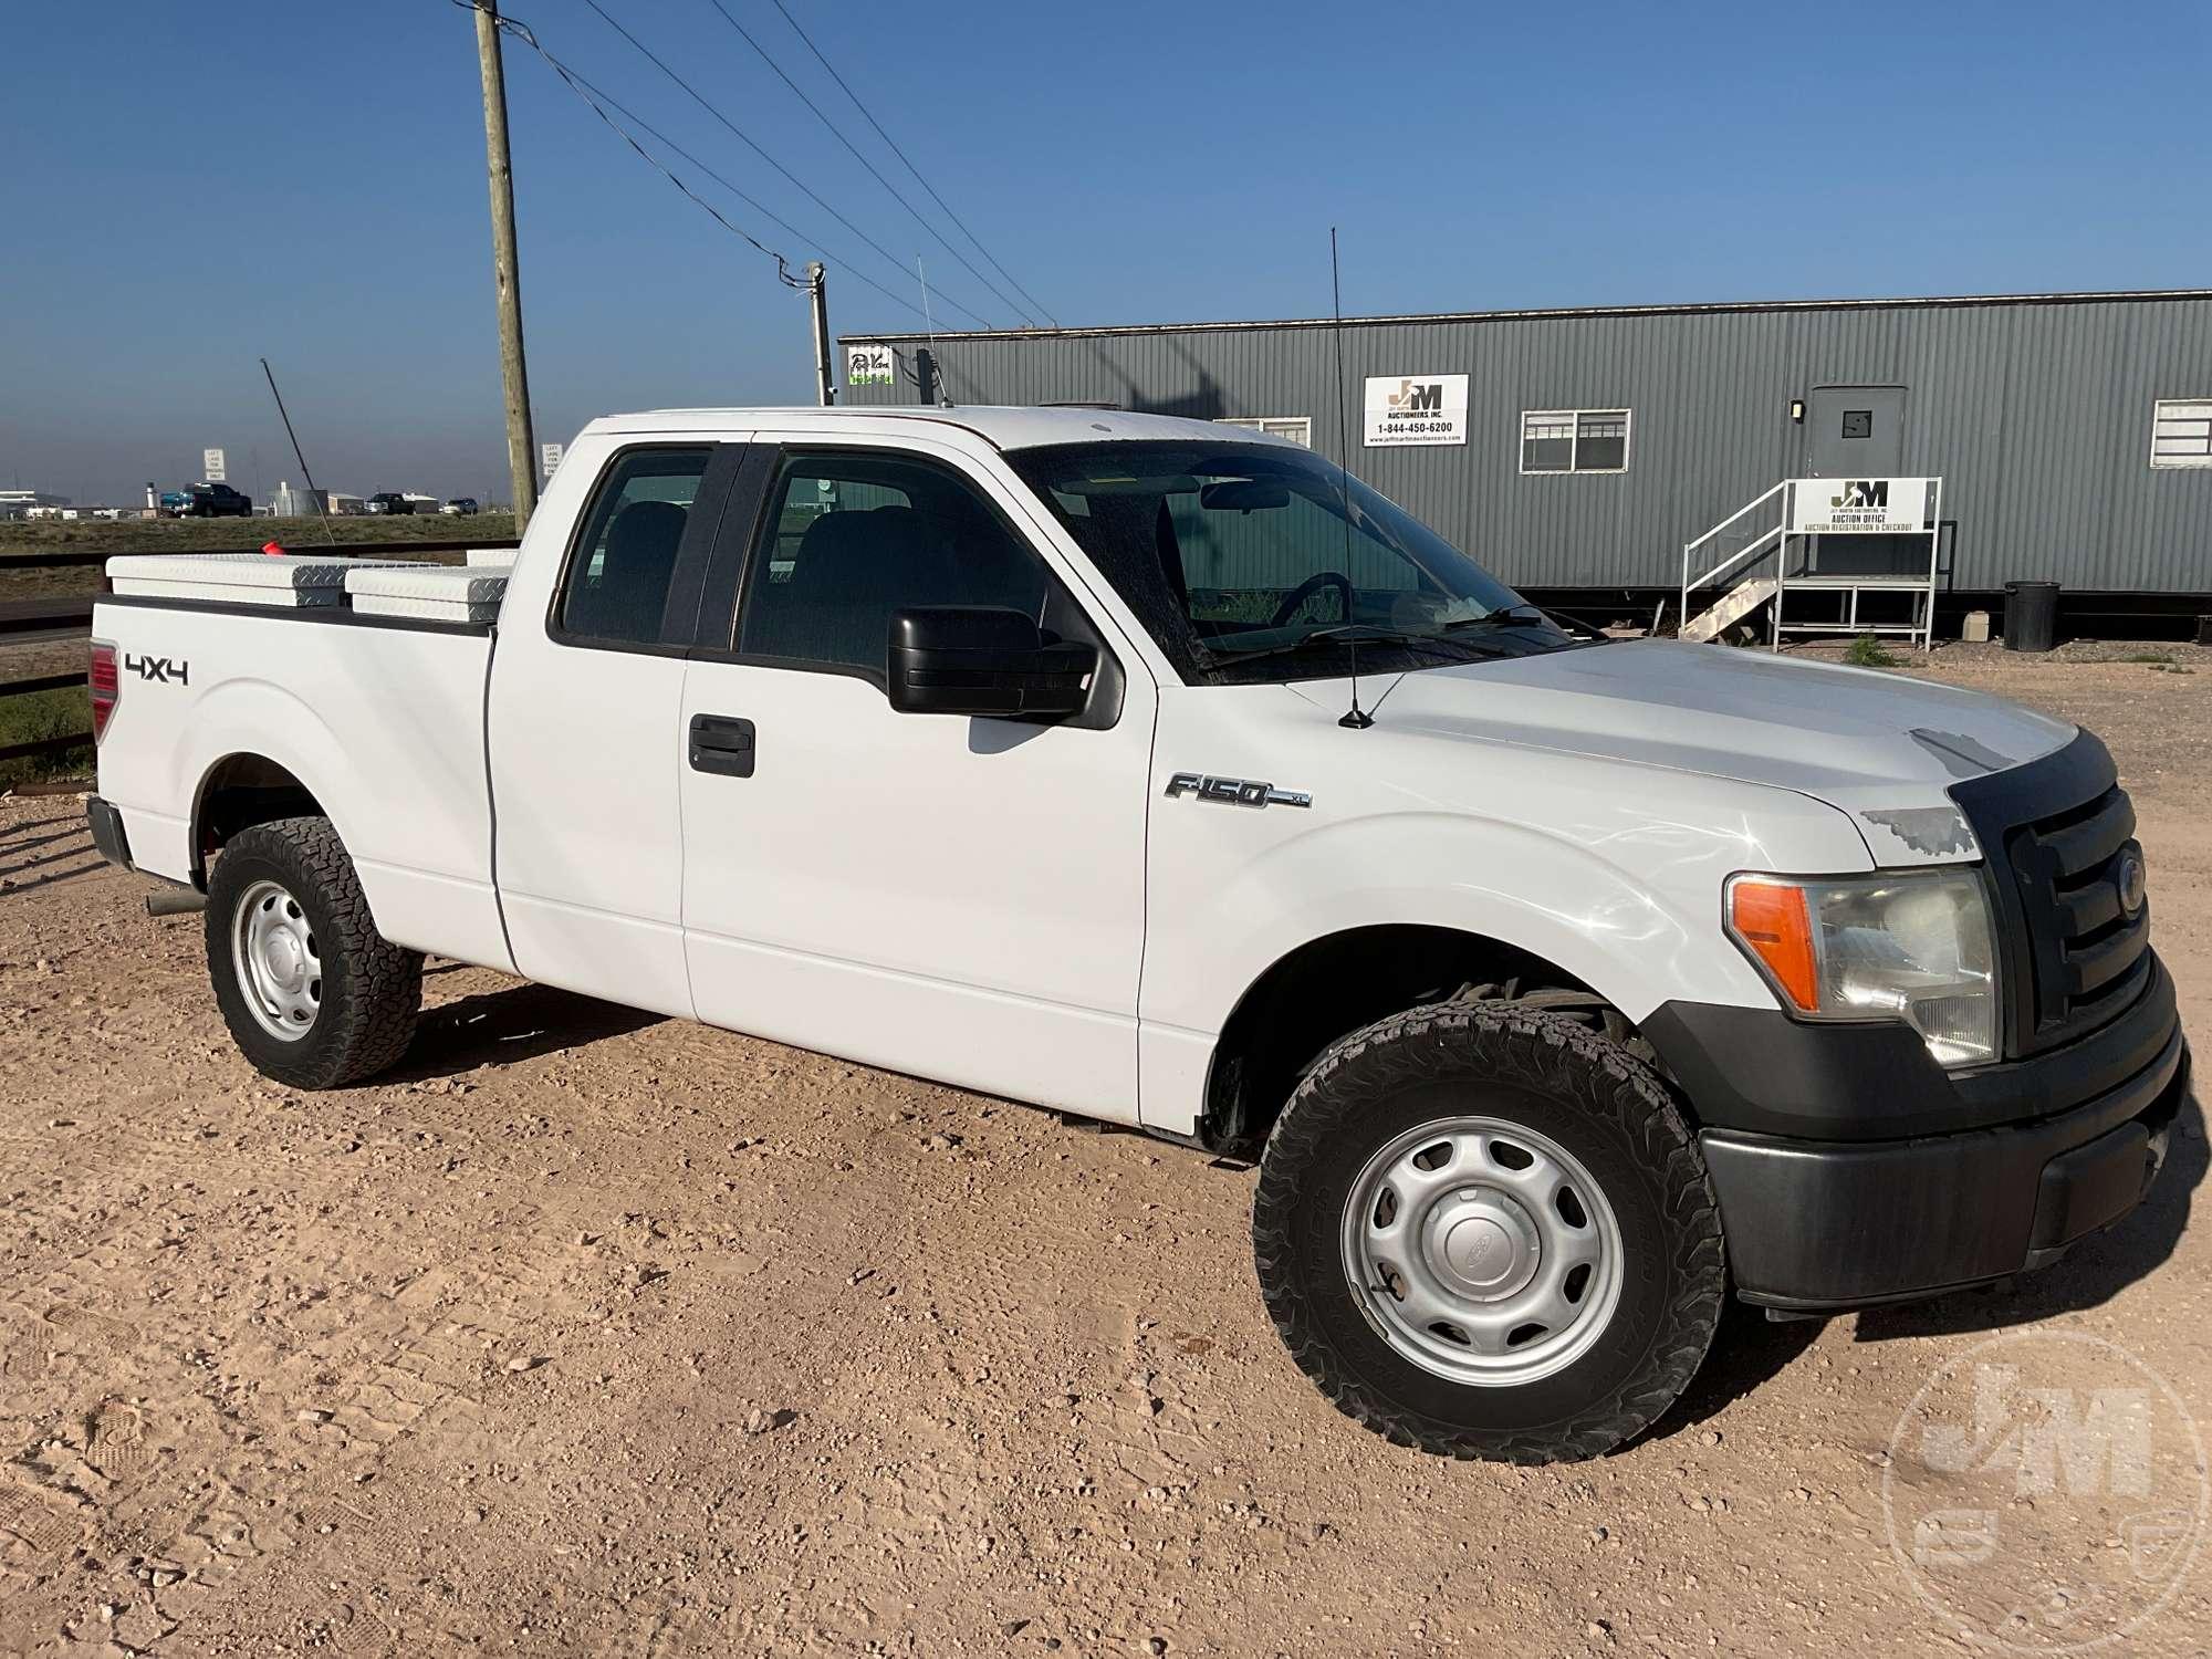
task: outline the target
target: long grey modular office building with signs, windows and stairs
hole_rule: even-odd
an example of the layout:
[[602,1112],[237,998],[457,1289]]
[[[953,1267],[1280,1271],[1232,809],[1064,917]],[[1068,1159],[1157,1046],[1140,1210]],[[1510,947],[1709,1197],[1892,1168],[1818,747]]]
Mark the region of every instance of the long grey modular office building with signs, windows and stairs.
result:
[[[2086,628],[2212,611],[2212,290],[1363,316],[1340,325],[1343,398],[1336,327],[845,336],[841,396],[1276,431],[1577,611],[1655,606],[1721,560],[1692,613],[1767,575],[1792,582],[1792,626],[1823,604],[1896,619],[1885,597],[1911,611],[1931,568],[1938,630],[2017,580],[2059,582]],[[1885,535],[1783,538],[1812,502],[1785,480],[1838,480],[1827,520],[1860,480],[1911,500],[1860,515]],[[1920,593],[1847,593],[1885,582]]]

